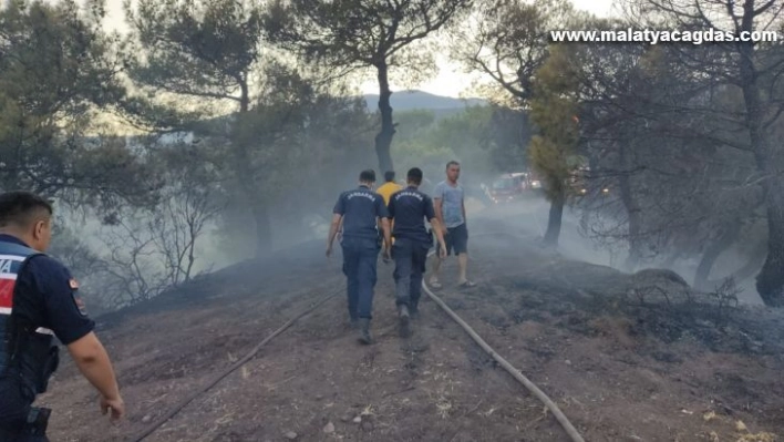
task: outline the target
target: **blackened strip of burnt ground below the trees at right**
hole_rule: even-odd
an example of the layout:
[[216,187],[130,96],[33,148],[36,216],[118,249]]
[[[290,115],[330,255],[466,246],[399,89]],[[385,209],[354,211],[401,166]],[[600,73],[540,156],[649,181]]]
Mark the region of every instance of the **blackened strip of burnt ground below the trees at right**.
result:
[[[691,339],[712,351],[746,354],[782,354],[784,321],[765,318],[761,307],[720,305],[684,300],[670,305],[661,299],[641,302],[625,292],[576,290],[557,281],[510,278],[508,291],[518,296],[516,308],[509,309],[515,323],[543,321],[545,315],[557,318],[557,325],[570,331],[595,336],[590,321],[596,317],[628,318],[629,335],[652,337],[664,343]],[[710,295],[703,297],[710,299]],[[499,320],[491,323],[501,326]]]

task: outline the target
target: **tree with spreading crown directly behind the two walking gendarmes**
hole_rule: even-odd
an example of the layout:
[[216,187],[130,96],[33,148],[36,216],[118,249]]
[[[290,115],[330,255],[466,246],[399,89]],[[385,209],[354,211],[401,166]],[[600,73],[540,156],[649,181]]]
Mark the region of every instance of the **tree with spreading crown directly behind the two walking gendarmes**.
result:
[[395,123],[390,105],[390,70],[422,72],[432,64],[432,52],[416,43],[467,11],[471,2],[278,0],[267,18],[268,31],[281,47],[295,50],[307,61],[334,68],[339,75],[375,70],[381,114],[375,152],[381,171],[391,171]]

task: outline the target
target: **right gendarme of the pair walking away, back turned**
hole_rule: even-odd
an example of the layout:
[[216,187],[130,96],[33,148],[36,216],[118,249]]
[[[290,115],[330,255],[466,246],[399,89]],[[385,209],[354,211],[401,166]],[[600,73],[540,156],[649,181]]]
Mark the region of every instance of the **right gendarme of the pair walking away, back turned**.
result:
[[419,191],[422,169],[410,169],[406,179],[409,186],[392,194],[389,204],[390,218],[394,222],[392,234],[395,237],[392,246],[395,304],[403,336],[409,333],[409,318],[419,316],[422,275],[425,271],[427,250],[433,243],[432,234],[425,229],[425,219],[433,226],[439,239],[439,256],[446,257],[444,234],[435,216],[433,201]]

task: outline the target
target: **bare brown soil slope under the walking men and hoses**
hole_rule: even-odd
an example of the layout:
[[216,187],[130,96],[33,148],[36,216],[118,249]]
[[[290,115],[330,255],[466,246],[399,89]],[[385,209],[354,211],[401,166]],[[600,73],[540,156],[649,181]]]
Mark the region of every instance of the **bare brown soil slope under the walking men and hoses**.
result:
[[[458,289],[451,259],[439,296],[556,401],[586,441],[782,440],[784,315],[720,307],[679,292],[666,274],[643,284],[564,259],[533,236],[482,235],[503,225],[472,226],[478,286]],[[434,302],[423,301],[413,336],[400,338],[391,275],[380,263],[375,345],[360,345],[347,327],[341,291],[146,441],[568,441]],[[640,295],[650,287],[662,289]],[[64,357],[40,400],[54,409],[52,441],[137,434],[342,288],[340,255],[327,260],[318,243],[102,317],[99,335],[127,419],[113,426],[101,417],[96,394]]]

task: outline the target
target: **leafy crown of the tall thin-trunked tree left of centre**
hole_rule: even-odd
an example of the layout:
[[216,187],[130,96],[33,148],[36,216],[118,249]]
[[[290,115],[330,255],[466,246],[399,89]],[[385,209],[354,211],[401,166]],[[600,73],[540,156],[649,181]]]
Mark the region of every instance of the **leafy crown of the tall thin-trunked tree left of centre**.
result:
[[228,100],[247,110],[262,35],[254,3],[140,0],[136,7],[125,3],[134,81],[151,91]]

